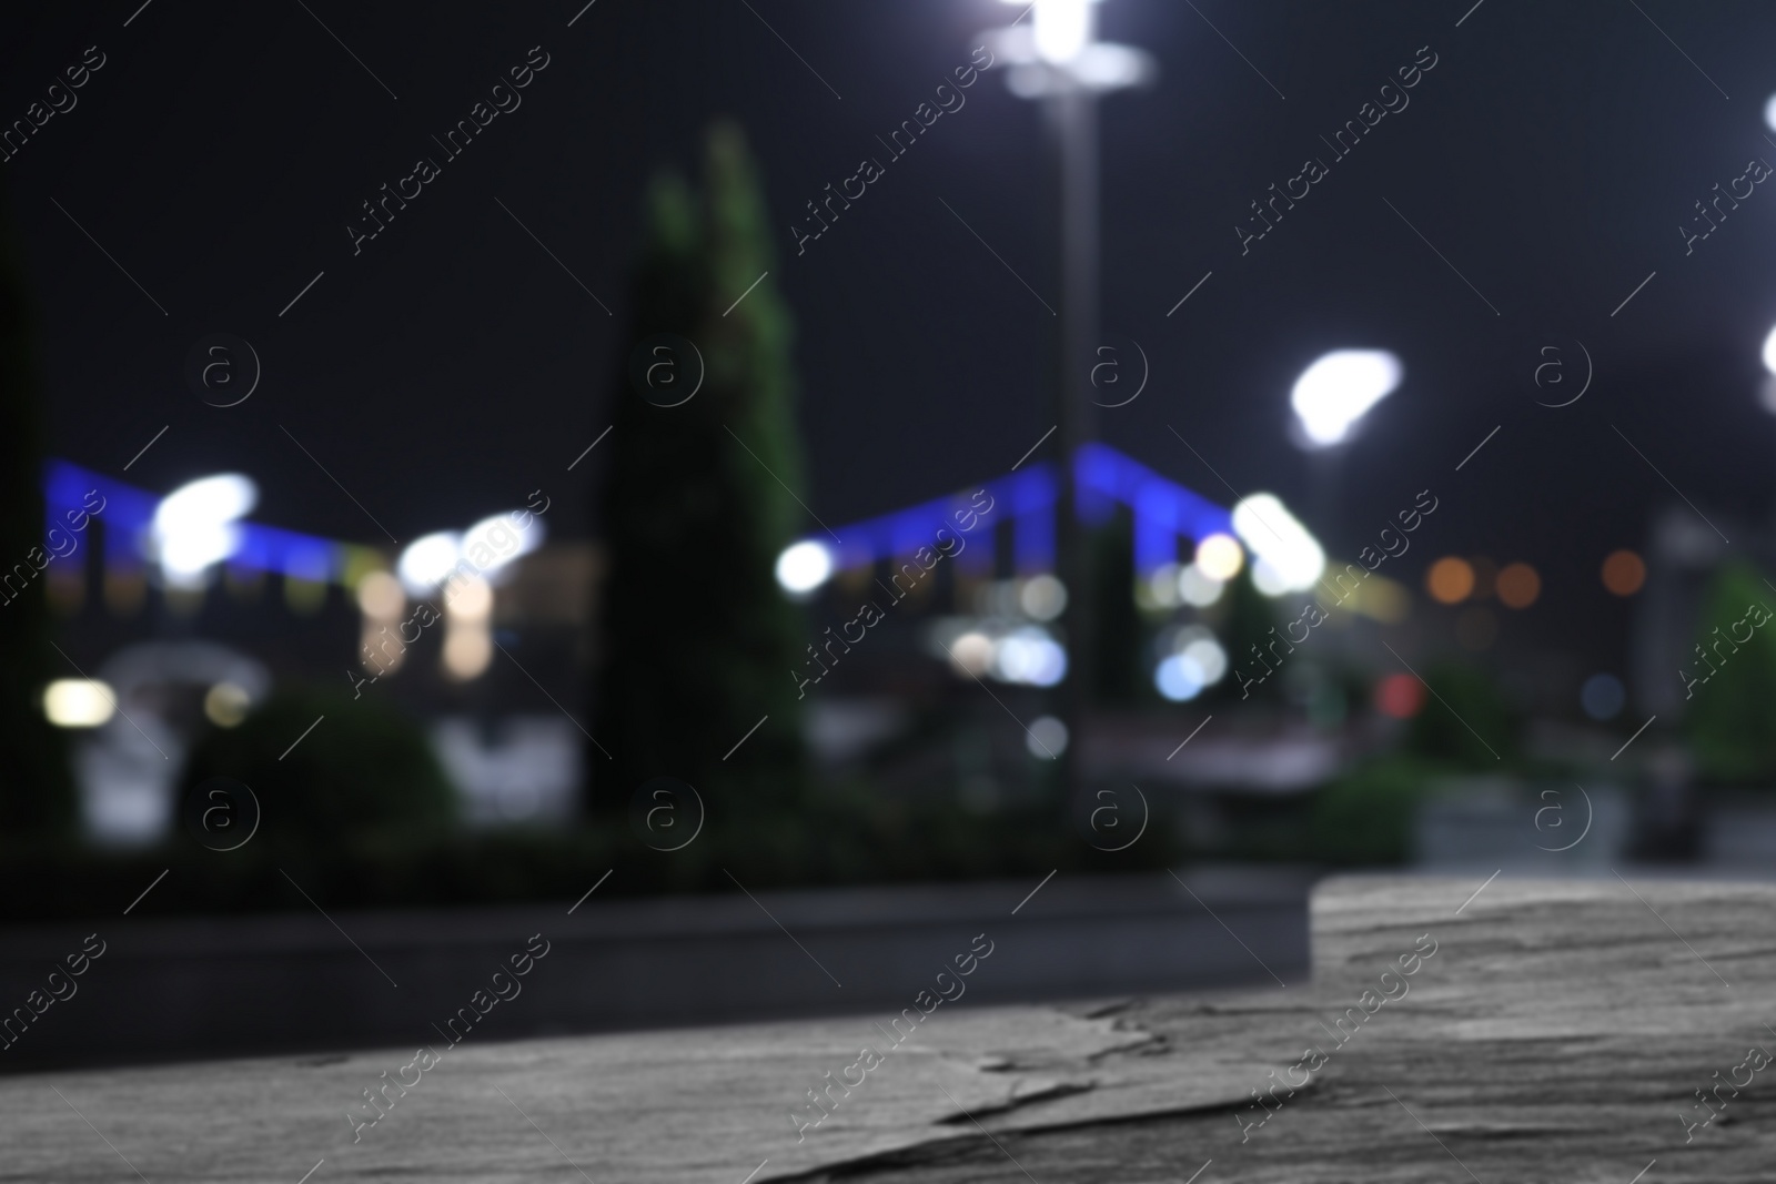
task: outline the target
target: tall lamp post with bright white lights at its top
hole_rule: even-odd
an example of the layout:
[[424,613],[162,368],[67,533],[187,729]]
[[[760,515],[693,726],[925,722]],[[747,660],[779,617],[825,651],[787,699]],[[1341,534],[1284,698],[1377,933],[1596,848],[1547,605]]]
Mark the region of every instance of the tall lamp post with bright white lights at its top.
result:
[[[1025,0],[1005,0],[1023,4]],[[1092,437],[1090,369],[1098,337],[1098,96],[1146,82],[1153,59],[1140,50],[1094,41],[1099,0],[1035,0],[1028,25],[991,34],[995,57],[1011,64],[1007,85],[1021,99],[1041,99],[1055,140],[1060,206],[1058,378],[1051,387],[1060,474],[1055,513],[1055,570],[1067,589],[1060,627],[1067,641],[1067,676],[1058,689],[1062,722],[1071,737],[1060,779],[1083,790],[1080,742],[1092,692],[1092,573],[1089,540],[1078,520],[1074,456]]]

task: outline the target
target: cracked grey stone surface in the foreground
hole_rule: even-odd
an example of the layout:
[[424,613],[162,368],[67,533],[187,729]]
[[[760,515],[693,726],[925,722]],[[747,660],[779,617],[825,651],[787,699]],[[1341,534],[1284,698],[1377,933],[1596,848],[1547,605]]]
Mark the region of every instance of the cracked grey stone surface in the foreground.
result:
[[1735,1067],[1776,1051],[1776,888],[1476,888],[1321,884],[1311,983],[941,1005],[892,1051],[892,1015],[439,1040],[355,1143],[412,1049],[21,1076],[0,1180],[1767,1180],[1776,1074]]

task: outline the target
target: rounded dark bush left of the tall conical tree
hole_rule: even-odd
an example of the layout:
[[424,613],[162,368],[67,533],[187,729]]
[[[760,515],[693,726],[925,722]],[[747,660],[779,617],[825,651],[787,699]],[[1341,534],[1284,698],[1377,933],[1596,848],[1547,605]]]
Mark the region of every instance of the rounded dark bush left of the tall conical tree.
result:
[[186,762],[179,801],[190,802],[210,777],[247,785],[261,811],[254,843],[291,857],[439,836],[456,815],[424,731],[375,699],[332,691],[282,691],[240,726],[206,733]]

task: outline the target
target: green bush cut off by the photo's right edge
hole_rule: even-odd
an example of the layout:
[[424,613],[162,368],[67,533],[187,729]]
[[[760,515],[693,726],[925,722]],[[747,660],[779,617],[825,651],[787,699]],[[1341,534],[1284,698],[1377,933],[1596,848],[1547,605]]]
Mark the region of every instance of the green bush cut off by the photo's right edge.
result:
[[[1762,572],[1726,563],[1714,573],[1696,625],[1696,650],[1685,655],[1689,687],[1684,731],[1705,781],[1776,783],[1776,602]],[[1749,611],[1749,616],[1748,616]],[[1753,621],[1767,623],[1755,627]],[[1737,628],[1735,628],[1737,625]],[[1712,673],[1710,673],[1712,669]]]

